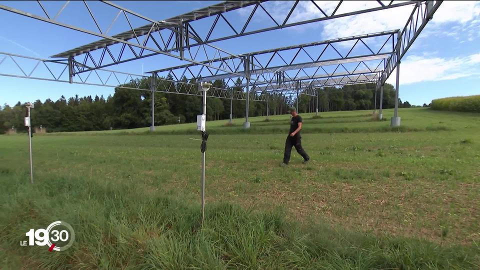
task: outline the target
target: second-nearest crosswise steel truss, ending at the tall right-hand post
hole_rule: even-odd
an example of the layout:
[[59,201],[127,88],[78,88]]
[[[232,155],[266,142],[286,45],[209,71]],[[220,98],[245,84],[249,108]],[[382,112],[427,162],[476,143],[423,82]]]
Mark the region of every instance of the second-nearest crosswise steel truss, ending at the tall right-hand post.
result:
[[[263,84],[265,82],[270,83],[278,74],[281,73],[283,79],[285,80],[294,80],[294,77],[289,76],[288,74],[285,75],[283,71],[285,70],[293,70],[293,69],[300,69],[300,73],[298,74],[306,74],[305,68],[308,67],[319,67],[321,65],[330,65],[330,64],[342,64],[342,63],[349,63],[355,61],[362,61],[362,60],[369,60],[369,59],[379,59],[379,58],[386,58],[388,54],[393,51],[394,42],[396,42],[396,34],[398,30],[389,30],[377,33],[369,33],[363,35],[356,35],[356,36],[348,36],[342,37],[337,39],[331,40],[324,40],[319,42],[311,42],[305,44],[298,44],[294,46],[288,47],[281,47],[269,50],[262,50],[262,51],[255,51],[245,53],[251,57],[251,61],[255,63],[256,68],[252,68],[251,75],[257,78],[255,83]],[[375,45],[368,45],[367,38],[375,38],[378,37],[381,39],[381,42]],[[366,40],[366,43],[365,41]],[[384,41],[384,42],[383,42]],[[346,43],[351,42],[352,44]],[[346,45],[345,45],[346,44]],[[345,46],[343,50],[345,52],[340,53],[342,49],[339,46]],[[313,54],[311,51],[308,52],[307,49],[318,49],[320,52]],[[326,55],[326,51],[330,49],[335,51],[335,55]],[[364,49],[364,55],[354,54],[355,49]],[[289,53],[293,54],[293,56],[287,56]],[[306,55],[309,62],[298,63],[298,55],[299,54]],[[264,59],[262,59],[262,56]],[[360,59],[359,57],[364,57]],[[370,58],[367,58],[370,57]],[[272,66],[275,63],[272,59],[280,59],[281,64],[280,66]],[[320,60],[321,59],[321,60]],[[223,62],[227,61],[226,58],[216,58],[212,59],[211,62]],[[335,62],[337,61],[337,62]],[[278,64],[278,63],[276,63]],[[193,69],[194,67],[197,70]],[[259,67],[259,68],[258,68]],[[364,66],[363,66],[364,67]],[[340,66],[340,69],[345,69],[344,66]],[[317,68],[315,73],[325,71],[323,68]],[[228,78],[235,78],[238,77],[237,75],[224,73],[224,74],[213,74],[209,73],[205,68],[199,67],[195,64],[185,64],[180,66],[175,66],[171,68],[163,68],[158,70],[149,71],[150,72],[161,72],[165,76],[171,75],[174,79],[179,80],[183,76],[187,76],[187,78],[195,78],[196,81],[213,81],[216,79],[228,79]],[[326,72],[326,71],[325,71]],[[246,76],[243,69],[239,69],[238,73],[242,76]],[[264,74],[270,73],[270,74]],[[275,73],[275,74],[273,74]],[[313,75],[315,75],[313,73]],[[328,72],[326,72],[328,73]],[[295,75],[296,76],[296,75]],[[201,78],[200,78],[201,77]],[[231,81],[231,80],[229,80]]]

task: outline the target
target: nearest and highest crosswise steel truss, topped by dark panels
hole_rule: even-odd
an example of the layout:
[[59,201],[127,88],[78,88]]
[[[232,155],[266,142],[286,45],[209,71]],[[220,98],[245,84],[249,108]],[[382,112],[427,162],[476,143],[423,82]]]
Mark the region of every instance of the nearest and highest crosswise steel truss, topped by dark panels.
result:
[[[128,14],[138,15],[138,14],[134,13],[133,11],[126,10],[126,9],[121,8],[117,5],[114,5],[114,4],[112,4],[108,1],[104,1],[104,2],[109,4],[110,6],[119,8],[120,10],[125,10],[125,12],[127,12]],[[264,2],[265,1],[225,1],[223,3],[211,5],[211,6],[208,6],[208,7],[202,8],[202,9],[198,9],[198,10],[195,10],[195,11],[192,11],[192,12],[180,15],[180,16],[176,16],[176,17],[172,17],[172,18],[169,18],[169,19],[162,20],[162,21],[160,21],[161,24],[159,24],[159,25],[158,25],[158,21],[153,21],[151,19],[145,18],[149,22],[149,24],[138,27],[138,28],[130,27],[130,29],[128,29],[128,31],[122,32],[122,33],[117,35],[118,37],[121,37],[121,38],[117,38],[117,39],[112,40],[111,38],[104,37],[102,40],[99,40],[99,41],[96,41],[96,42],[93,42],[93,43],[90,43],[90,44],[87,44],[87,45],[84,45],[84,46],[80,46],[78,48],[68,50],[68,51],[56,54],[54,56],[58,56],[58,57],[76,56],[76,55],[78,55],[78,53],[80,53],[80,54],[81,53],[86,53],[86,52],[93,51],[93,50],[96,50],[96,49],[99,49],[99,48],[108,47],[111,44],[115,44],[115,43],[118,43],[118,42],[123,42],[122,40],[132,40],[133,39],[133,41],[136,42],[138,45],[145,46],[145,44],[142,44],[138,40],[139,37],[143,37],[143,40],[145,40],[144,43],[146,43],[146,41],[151,39],[151,40],[154,40],[154,43],[163,45],[163,46],[156,46],[155,45],[155,47],[160,49],[161,52],[157,51],[156,49],[155,50],[149,50],[149,53],[141,54],[141,55],[135,55],[134,57],[124,59],[124,61],[134,60],[134,59],[137,59],[137,58],[140,58],[140,57],[147,57],[147,56],[159,54],[159,53],[162,53],[162,52],[172,53],[172,52],[177,51],[178,56],[181,56],[180,54],[182,53],[182,51],[184,49],[187,49],[189,51],[189,53],[191,54],[190,48],[205,45],[205,44],[209,44],[209,43],[212,43],[212,42],[217,42],[217,41],[226,40],[226,39],[235,38],[235,37],[244,36],[244,35],[249,35],[249,34],[261,33],[261,32],[275,30],[275,29],[281,29],[281,28],[286,28],[286,27],[291,27],[291,26],[302,25],[302,24],[306,24],[306,23],[312,23],[312,22],[323,21],[323,20],[328,20],[328,19],[333,19],[333,18],[339,18],[339,17],[344,17],[344,16],[351,16],[351,15],[357,15],[357,14],[361,14],[361,13],[367,13],[367,12],[372,12],[372,11],[377,11],[377,10],[382,10],[382,9],[388,9],[388,8],[394,8],[394,7],[404,6],[404,5],[410,5],[410,4],[416,3],[417,1],[403,1],[403,2],[390,1],[388,4],[384,4],[381,1],[377,1],[377,2],[374,2],[374,4],[376,5],[375,7],[363,8],[363,9],[362,8],[357,8],[356,10],[353,10],[353,11],[350,11],[350,12],[343,12],[343,13],[339,12],[338,10],[339,10],[340,7],[343,7],[344,5],[348,4],[348,3],[346,3],[346,1],[339,1],[336,8],[334,10],[331,10],[330,12],[326,11],[327,8],[324,6],[324,3],[309,1],[309,2],[311,2],[311,4],[313,4],[315,6],[315,8],[317,8],[319,11],[321,11],[321,13],[318,13],[316,15],[316,17],[314,17],[314,18],[304,19],[304,20],[299,20],[299,21],[292,21],[292,19],[291,19],[291,14],[295,10],[301,8],[301,7],[298,7],[299,1],[298,0],[289,1],[290,4],[291,4],[291,8],[288,10],[287,13],[282,14],[282,15],[284,15],[283,16],[284,20],[282,22],[276,21],[273,18],[272,14],[270,12],[268,12],[268,10],[264,7],[264,5],[265,5]],[[252,8],[248,18],[246,19],[244,24],[241,26],[241,29],[233,27],[232,25],[234,25],[235,23],[232,23],[232,19],[231,18],[228,19],[228,16],[225,15],[224,13],[227,13],[227,12],[232,11],[232,10],[237,9],[237,8],[250,6],[250,5],[253,5],[253,8]],[[255,19],[255,17],[257,17],[257,16],[263,15],[263,14],[260,14],[260,13],[263,13],[263,14],[266,13],[268,15],[268,17],[272,20],[272,22],[276,26],[260,27],[260,28],[253,29],[253,30],[247,30],[247,28],[249,28],[248,26],[251,27],[251,25],[249,23],[252,19]],[[231,14],[231,12],[229,12],[228,14]],[[198,27],[198,26],[194,26],[193,22],[196,22],[197,20],[201,21],[202,19],[206,19],[208,17],[213,17],[214,20],[211,23],[211,26],[209,27],[208,31],[205,31],[207,33],[204,34],[204,35],[198,34],[199,32],[201,33],[203,31],[199,31],[198,28],[195,30],[195,27]],[[242,18],[238,18],[238,15],[237,15],[235,20],[239,20],[239,19],[242,19]],[[226,22],[226,24],[229,26],[229,28],[231,28],[232,32],[220,34],[221,36],[217,37],[217,38],[211,38],[211,36],[212,36],[211,34],[213,32],[217,32],[217,28],[219,28],[218,21]],[[170,26],[170,27],[167,27],[167,26]],[[158,32],[160,32],[160,33],[158,33]],[[154,38],[154,34],[157,34],[156,39]],[[165,38],[163,38],[163,37],[165,37]],[[164,40],[167,40],[167,41],[160,43],[160,41],[164,41]],[[174,40],[174,41],[172,41],[172,40]],[[131,44],[131,45],[133,45],[133,44]],[[167,46],[167,45],[171,45],[171,46]],[[104,52],[103,52],[103,54],[104,54]],[[87,56],[85,56],[85,57],[87,57]],[[105,67],[105,66],[104,65],[103,66],[102,65],[90,66],[90,68],[100,68],[100,67]]]

